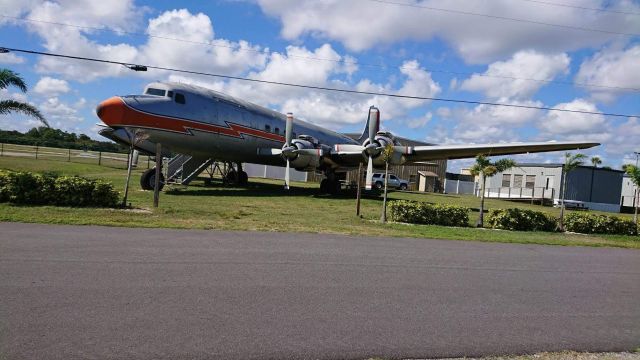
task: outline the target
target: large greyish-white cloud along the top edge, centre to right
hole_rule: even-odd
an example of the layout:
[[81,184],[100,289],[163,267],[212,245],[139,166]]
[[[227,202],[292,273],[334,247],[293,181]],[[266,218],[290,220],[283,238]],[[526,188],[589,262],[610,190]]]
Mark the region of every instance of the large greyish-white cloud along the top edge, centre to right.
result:
[[[633,15],[585,13],[576,8],[531,2],[412,0],[398,3],[410,6],[374,1],[258,0],[266,14],[280,20],[281,34],[285,39],[311,35],[337,40],[351,50],[362,51],[405,40],[424,41],[438,37],[451,44],[469,63],[486,63],[531,48],[544,53],[561,53],[597,46],[618,36],[453,14],[422,9],[421,6],[613,32],[640,32],[640,22]],[[574,0],[572,4],[586,7],[606,5],[611,9],[640,12],[640,5],[626,0],[606,4],[601,0]]]

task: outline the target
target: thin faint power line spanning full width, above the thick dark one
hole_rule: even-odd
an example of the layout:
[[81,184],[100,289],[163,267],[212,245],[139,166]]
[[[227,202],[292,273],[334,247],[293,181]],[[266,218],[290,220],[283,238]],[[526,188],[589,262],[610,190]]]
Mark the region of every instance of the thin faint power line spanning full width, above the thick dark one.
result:
[[[528,0],[523,0],[523,1],[528,1]],[[114,30],[114,29],[110,29],[110,28],[97,27],[97,26],[83,26],[83,25],[61,23],[61,22],[55,22],[55,21],[32,19],[32,18],[20,18],[20,17],[7,16],[7,15],[0,15],[0,17],[6,18],[6,19],[18,20],[18,21],[43,23],[43,24],[50,24],[50,25],[57,25],[57,26],[67,26],[67,27],[72,27],[72,28],[77,28],[77,29],[94,30],[94,31],[107,31],[107,32],[112,32],[112,33],[119,34],[119,35],[125,34],[125,35],[133,35],[133,36],[143,36],[143,37],[150,37],[150,38],[157,38],[157,39],[162,39],[162,40],[185,42],[185,43],[197,44],[197,45],[221,47],[221,48],[231,49],[231,50],[235,50],[235,51],[248,51],[248,52],[254,52],[254,53],[258,53],[258,54],[272,54],[272,52],[257,50],[257,49],[253,49],[253,48],[243,48],[243,47],[236,47],[236,46],[231,46],[231,45],[224,45],[224,44],[215,43],[213,41],[210,41],[210,42],[194,41],[194,40],[188,40],[188,39],[183,39],[183,38],[174,38],[174,37],[160,36],[160,35],[154,35],[154,34],[148,34],[148,33],[145,34],[145,33],[139,33],[139,32],[124,31],[124,30]],[[327,59],[327,58],[319,58],[319,57],[314,57],[314,56],[301,56],[301,55],[291,55],[291,54],[288,54],[287,57],[288,58],[294,58],[294,59],[302,59],[302,60],[328,61],[328,62],[335,62],[335,63],[344,63],[344,64],[347,64],[347,65],[358,65],[358,66],[375,67],[375,68],[382,68],[382,69],[390,69],[390,68],[393,67],[393,68],[406,69],[406,70],[419,70],[419,68],[416,68],[416,67],[413,67],[413,66],[380,65],[380,64],[362,63],[362,62],[358,62],[358,61],[351,61],[351,60],[345,60],[345,59]],[[449,74],[449,75],[481,76],[481,77],[487,77],[487,78],[508,79],[508,80],[524,80],[524,81],[533,81],[533,82],[539,82],[539,83],[570,85],[570,86],[578,86],[578,87],[586,87],[586,88],[603,88],[603,89],[613,89],[613,90],[640,91],[640,88],[611,86],[611,85],[592,84],[592,83],[583,83],[583,82],[561,81],[561,80],[553,80],[553,79],[534,79],[534,78],[524,78],[524,77],[517,77],[517,76],[498,75],[498,74],[491,74],[491,73],[482,74],[482,73],[471,73],[471,72],[444,70],[444,69],[433,69],[433,68],[425,68],[425,67],[423,67],[423,69],[426,70],[426,71],[432,72],[432,73],[443,73],[443,74]]]

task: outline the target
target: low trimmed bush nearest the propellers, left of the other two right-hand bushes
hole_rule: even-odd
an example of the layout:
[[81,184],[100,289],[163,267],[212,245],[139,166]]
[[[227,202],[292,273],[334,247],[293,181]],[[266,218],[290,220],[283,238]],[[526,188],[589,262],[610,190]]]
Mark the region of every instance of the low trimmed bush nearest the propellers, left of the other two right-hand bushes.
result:
[[393,221],[425,225],[469,225],[469,208],[462,206],[397,200],[389,203],[389,209]]

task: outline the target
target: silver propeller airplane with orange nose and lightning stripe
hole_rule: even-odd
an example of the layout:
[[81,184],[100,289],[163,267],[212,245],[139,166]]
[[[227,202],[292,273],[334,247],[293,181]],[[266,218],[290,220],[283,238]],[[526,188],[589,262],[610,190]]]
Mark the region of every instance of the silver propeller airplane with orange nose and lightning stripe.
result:
[[[372,187],[374,168],[384,167],[382,152],[392,146],[390,164],[473,158],[479,154],[510,155],[558,150],[587,149],[594,142],[530,142],[461,145],[405,146],[390,132],[380,131],[380,110],[369,108],[362,135],[355,139],[268,108],[207,88],[175,82],[153,82],[141,95],[114,96],[101,102],[97,116],[106,125],[100,134],[129,144],[132,129],[141,129],[146,140],[134,144],[155,153],[160,143],[168,151],[203,159],[236,163],[233,178],[247,182],[242,163],[284,166],[285,188],[290,168],[325,175],[322,193],[335,194],[346,172],[367,164],[365,188]],[[161,179],[161,185],[163,179]],[[144,189],[155,185],[155,170],[143,175]]]

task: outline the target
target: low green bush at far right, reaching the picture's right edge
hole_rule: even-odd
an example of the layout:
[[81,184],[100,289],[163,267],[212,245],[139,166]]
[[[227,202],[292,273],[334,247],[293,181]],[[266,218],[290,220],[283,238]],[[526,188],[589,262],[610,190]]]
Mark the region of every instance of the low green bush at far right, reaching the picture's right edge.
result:
[[565,230],[583,234],[638,235],[631,220],[617,216],[572,212],[564,217]]

